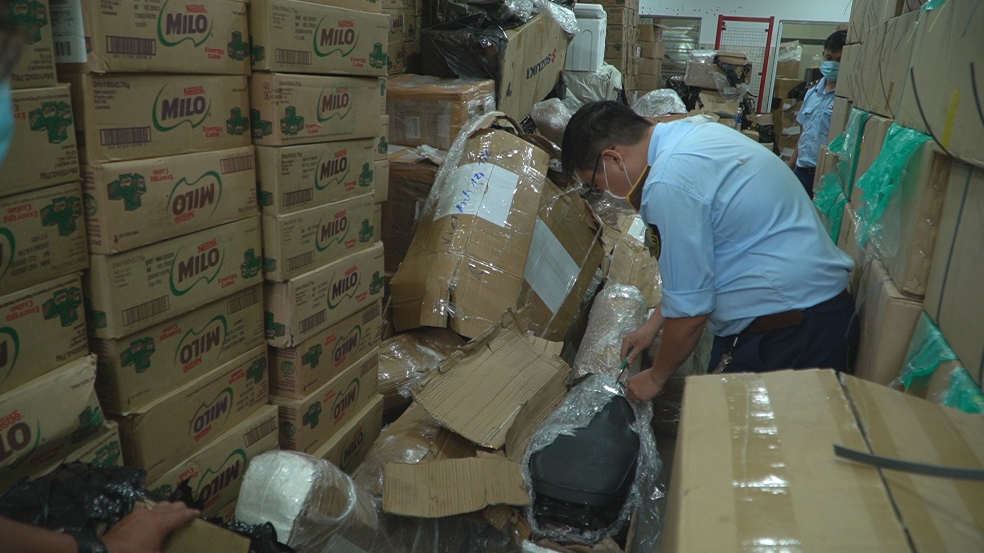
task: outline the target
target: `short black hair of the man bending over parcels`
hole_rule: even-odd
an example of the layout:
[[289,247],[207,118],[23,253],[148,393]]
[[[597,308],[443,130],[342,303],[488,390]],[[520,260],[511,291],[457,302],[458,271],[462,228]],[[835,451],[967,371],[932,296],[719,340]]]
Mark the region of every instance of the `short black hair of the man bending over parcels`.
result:
[[589,169],[602,151],[613,146],[631,146],[646,137],[652,126],[645,117],[628,105],[613,101],[592,101],[584,104],[571,117],[564,129],[564,173]]

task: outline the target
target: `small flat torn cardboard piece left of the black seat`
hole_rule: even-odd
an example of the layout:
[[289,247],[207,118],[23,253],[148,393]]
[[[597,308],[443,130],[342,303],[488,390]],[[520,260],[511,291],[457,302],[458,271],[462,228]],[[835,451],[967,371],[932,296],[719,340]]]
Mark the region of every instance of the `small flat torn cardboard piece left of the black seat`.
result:
[[383,509],[407,517],[439,518],[473,513],[490,505],[526,505],[529,494],[520,466],[505,457],[386,465]]

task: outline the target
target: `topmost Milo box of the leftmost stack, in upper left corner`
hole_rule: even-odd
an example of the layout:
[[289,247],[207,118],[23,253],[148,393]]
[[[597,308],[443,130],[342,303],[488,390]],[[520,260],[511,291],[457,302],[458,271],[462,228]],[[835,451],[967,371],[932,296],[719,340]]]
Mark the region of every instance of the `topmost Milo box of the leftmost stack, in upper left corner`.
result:
[[10,75],[11,88],[54,87],[57,79],[48,0],[14,0],[9,3],[9,10],[8,17],[25,33],[21,59]]

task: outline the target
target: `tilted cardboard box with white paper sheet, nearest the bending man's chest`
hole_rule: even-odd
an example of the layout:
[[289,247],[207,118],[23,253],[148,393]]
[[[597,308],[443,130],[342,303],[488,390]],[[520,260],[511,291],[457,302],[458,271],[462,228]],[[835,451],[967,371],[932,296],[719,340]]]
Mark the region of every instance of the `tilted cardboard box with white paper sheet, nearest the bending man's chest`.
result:
[[604,249],[600,222],[581,197],[547,181],[523,270],[530,327],[536,336],[567,341]]

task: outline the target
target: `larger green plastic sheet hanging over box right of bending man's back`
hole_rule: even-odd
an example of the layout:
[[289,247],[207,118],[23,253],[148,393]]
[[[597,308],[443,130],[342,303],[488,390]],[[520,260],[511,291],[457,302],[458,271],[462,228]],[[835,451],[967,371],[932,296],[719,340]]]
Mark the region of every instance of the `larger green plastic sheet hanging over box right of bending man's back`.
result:
[[929,135],[892,123],[881,154],[857,180],[856,186],[863,192],[862,205],[858,210],[859,249],[864,249],[871,242],[878,257],[889,255],[885,247],[886,224],[883,217],[898,185],[908,172],[909,159],[930,140]]

